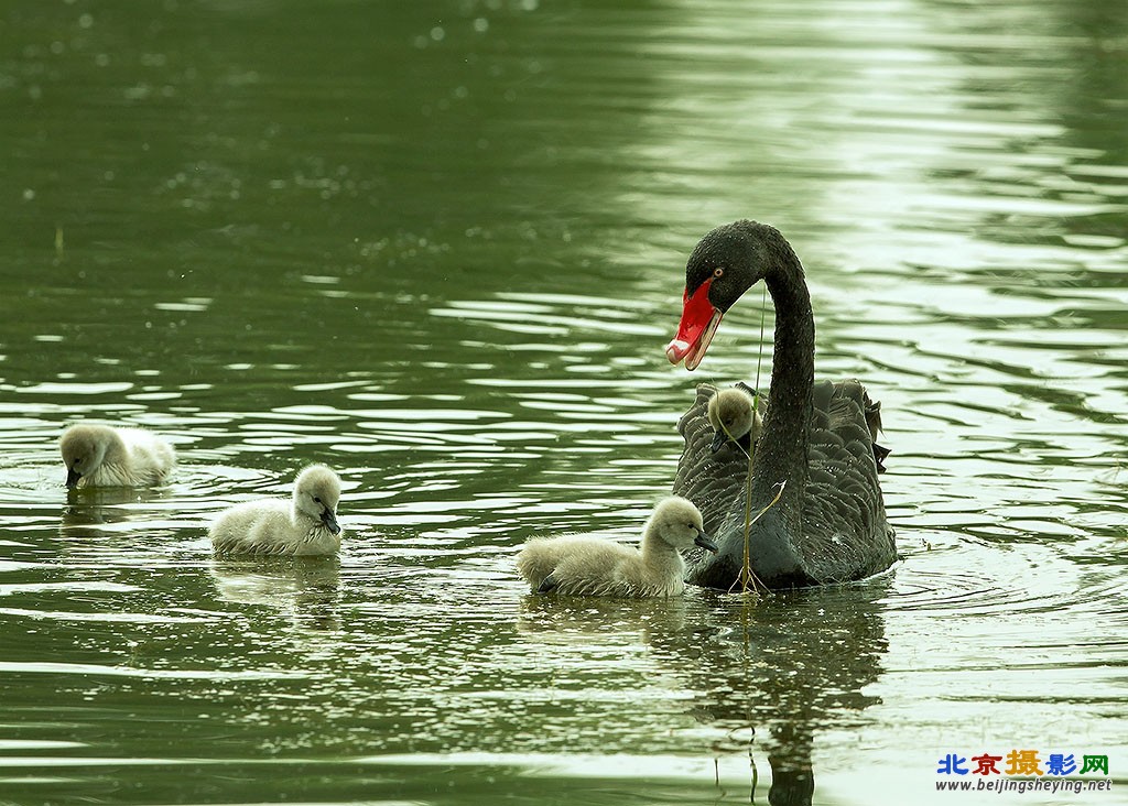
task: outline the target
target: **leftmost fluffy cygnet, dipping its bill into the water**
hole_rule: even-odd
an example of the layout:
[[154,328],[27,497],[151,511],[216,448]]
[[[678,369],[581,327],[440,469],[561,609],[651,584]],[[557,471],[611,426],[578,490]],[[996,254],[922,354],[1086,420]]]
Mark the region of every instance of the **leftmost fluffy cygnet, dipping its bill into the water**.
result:
[[146,487],[168,479],[176,451],[140,428],[72,425],[59,440],[68,487]]

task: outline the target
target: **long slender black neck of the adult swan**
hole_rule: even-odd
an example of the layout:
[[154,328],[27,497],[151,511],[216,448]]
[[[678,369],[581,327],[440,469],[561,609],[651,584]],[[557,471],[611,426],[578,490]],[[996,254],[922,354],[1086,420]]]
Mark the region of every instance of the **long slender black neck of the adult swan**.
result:
[[764,278],[775,304],[776,329],[767,413],[752,459],[752,499],[757,506],[766,505],[774,496],[772,487],[786,480],[779,514],[797,533],[802,526],[802,498],[808,476],[814,317],[803,266],[786,241],[781,241],[774,249],[777,260]]

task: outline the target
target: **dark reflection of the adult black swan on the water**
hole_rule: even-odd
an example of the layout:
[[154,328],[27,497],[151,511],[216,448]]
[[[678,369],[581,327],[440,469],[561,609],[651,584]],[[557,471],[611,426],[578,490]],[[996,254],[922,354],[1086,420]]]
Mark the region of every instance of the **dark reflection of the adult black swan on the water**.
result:
[[[810,804],[818,732],[879,702],[862,689],[881,675],[889,647],[880,604],[887,593],[882,579],[759,602],[707,594],[705,618],[653,643],[659,657],[693,663],[696,680],[707,681],[697,719],[730,735],[750,730],[749,750],[766,746],[773,806]],[[754,797],[756,783],[754,767]]]

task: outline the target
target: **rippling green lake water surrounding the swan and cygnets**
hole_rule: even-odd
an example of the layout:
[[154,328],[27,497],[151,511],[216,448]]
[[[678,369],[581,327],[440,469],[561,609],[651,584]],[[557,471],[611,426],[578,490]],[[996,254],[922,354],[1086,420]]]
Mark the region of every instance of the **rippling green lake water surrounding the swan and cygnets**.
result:
[[[1128,803],[1126,76],[1109,0],[11,0],[0,803],[973,803],[937,759],[1012,749]],[[755,377],[758,294],[662,352],[744,216],[883,404],[904,560],[529,597]],[[174,481],[68,497],[81,419]],[[311,461],[340,561],[213,561]]]

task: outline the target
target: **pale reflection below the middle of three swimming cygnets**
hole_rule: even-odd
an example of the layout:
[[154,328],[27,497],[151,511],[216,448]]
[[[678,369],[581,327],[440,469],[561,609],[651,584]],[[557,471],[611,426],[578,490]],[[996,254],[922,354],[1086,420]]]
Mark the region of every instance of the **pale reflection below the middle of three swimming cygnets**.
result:
[[303,629],[341,627],[341,560],[336,556],[213,558],[208,573],[226,602],[273,608]]

